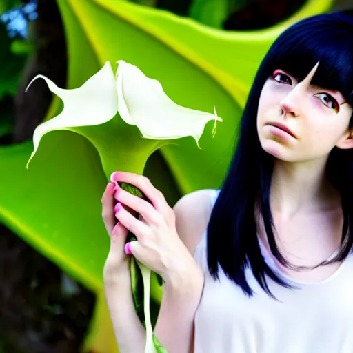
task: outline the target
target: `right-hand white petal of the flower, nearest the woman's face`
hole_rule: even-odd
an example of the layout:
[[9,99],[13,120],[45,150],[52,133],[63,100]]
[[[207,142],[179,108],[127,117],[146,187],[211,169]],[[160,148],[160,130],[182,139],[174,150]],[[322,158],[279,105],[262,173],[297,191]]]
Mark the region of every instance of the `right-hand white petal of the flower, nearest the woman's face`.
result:
[[143,137],[154,140],[192,136],[199,143],[205,124],[221,118],[208,112],[192,110],[174,103],[163,91],[161,83],[146,77],[139,68],[118,61],[117,94],[121,118],[137,125]]

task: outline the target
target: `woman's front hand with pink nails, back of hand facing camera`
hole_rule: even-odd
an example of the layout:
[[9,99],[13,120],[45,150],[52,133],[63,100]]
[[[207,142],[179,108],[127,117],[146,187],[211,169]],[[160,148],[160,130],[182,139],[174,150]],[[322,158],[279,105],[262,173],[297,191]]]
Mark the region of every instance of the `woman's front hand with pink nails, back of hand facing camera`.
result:
[[[187,274],[194,259],[177,234],[174,210],[163,194],[147,177],[139,174],[114,172],[111,181],[115,183],[114,198],[118,201],[114,207],[115,216],[123,228],[137,238],[125,245],[126,254],[134,255],[166,282]],[[121,189],[118,182],[136,186],[151,203]],[[139,219],[125,210],[126,206],[139,213]]]

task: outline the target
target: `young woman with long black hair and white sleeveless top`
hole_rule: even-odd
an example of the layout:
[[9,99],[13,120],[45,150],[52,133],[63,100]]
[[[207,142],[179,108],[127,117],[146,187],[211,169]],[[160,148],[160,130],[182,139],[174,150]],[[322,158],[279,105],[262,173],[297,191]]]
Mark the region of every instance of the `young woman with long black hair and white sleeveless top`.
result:
[[[112,175],[152,201],[117,183],[103,194],[121,353],[145,340],[125,253],[165,280],[155,334],[170,353],[353,352],[352,92],[352,17],[304,19],[261,63],[221,190],[172,210],[145,177]],[[128,230],[137,241],[124,252]]]

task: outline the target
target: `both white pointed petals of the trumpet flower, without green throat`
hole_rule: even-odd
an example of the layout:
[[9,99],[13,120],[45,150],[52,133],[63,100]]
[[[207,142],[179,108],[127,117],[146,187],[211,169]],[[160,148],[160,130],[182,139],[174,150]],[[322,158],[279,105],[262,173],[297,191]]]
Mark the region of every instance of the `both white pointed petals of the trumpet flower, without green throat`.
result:
[[[61,98],[64,108],[57,117],[41,123],[34,130],[34,151],[27,166],[37,152],[41,137],[47,132],[77,132],[77,129],[72,128],[101,125],[113,119],[117,112],[123,121],[136,125],[146,139],[168,140],[192,136],[199,146],[199,139],[210,120],[214,120],[214,134],[216,121],[222,121],[216,116],[216,110],[210,114],[181,107],[167,97],[159,81],[145,77],[139,68],[125,61],[118,63],[116,78],[107,61],[97,74],[72,90],[59,88],[41,74],[32,79],[28,88],[36,79],[44,79],[49,89]],[[110,129],[109,134],[117,134],[117,131]]]

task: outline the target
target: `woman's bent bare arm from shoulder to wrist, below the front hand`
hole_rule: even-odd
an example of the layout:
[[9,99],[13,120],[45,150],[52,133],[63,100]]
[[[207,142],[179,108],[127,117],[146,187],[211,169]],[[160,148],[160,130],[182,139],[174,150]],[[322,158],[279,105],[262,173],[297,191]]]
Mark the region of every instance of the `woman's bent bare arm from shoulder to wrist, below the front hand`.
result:
[[203,290],[203,272],[193,259],[210,214],[210,191],[183,196],[174,206],[179,237],[188,248],[179,273],[165,279],[163,299],[154,334],[169,353],[193,352],[194,316]]

